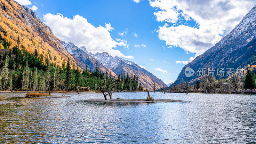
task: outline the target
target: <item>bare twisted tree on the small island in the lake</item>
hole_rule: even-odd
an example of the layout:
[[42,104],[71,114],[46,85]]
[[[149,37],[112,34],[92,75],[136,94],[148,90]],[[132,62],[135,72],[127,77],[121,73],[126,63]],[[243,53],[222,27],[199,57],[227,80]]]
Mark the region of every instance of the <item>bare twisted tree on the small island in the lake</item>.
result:
[[100,92],[104,95],[104,99],[107,100],[107,96],[109,95],[110,100],[112,100],[112,93],[115,91],[115,87],[117,85],[117,78],[118,76],[115,74],[114,76],[112,74],[109,74],[106,72],[103,72],[103,79],[100,80],[97,77],[98,87],[100,89]]

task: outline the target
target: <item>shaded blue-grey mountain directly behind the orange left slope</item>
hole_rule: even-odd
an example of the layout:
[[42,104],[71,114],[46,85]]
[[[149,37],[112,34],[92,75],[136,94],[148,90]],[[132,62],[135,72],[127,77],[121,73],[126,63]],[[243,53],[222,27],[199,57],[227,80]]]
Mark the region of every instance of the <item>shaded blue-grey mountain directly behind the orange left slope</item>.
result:
[[96,60],[92,56],[87,54],[89,52],[86,51],[85,47],[84,49],[81,49],[73,43],[66,43],[65,41],[62,41],[62,44],[67,48],[69,54],[74,56],[76,59],[81,60],[83,64],[87,64],[87,67],[89,69],[94,70],[94,68],[98,65],[101,71],[108,71],[108,73],[114,74],[112,70],[101,64],[99,60]]

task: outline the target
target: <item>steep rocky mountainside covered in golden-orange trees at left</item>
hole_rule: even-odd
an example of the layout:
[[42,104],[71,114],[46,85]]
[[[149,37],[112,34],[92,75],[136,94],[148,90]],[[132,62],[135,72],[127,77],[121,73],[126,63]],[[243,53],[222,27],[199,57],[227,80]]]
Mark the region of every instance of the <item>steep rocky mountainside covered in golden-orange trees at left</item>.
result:
[[0,19],[0,34],[11,43],[10,47],[24,46],[30,53],[37,50],[44,61],[48,59],[49,62],[59,65],[70,57],[71,63],[76,62],[81,68],[85,67],[68,54],[66,47],[54,36],[51,28],[26,6],[12,0],[0,0]]

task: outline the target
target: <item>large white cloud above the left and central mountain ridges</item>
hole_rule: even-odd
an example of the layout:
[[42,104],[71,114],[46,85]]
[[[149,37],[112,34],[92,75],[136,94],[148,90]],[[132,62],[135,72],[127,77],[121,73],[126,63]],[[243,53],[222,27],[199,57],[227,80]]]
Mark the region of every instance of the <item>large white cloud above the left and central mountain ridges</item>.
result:
[[52,29],[55,36],[61,40],[72,42],[78,47],[86,46],[86,49],[92,53],[109,52],[113,56],[133,59],[132,56],[125,56],[120,51],[113,49],[117,45],[127,46],[128,44],[124,41],[119,43],[114,41],[108,31],[109,27],[108,29],[103,26],[94,27],[80,15],[69,19],[60,13],[56,15],[47,13],[44,14],[43,20]]

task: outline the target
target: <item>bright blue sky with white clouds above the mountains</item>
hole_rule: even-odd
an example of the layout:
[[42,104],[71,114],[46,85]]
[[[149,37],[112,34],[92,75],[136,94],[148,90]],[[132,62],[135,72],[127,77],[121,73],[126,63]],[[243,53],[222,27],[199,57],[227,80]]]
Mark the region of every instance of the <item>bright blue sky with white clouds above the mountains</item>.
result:
[[176,80],[186,63],[229,33],[256,4],[252,0],[17,1],[31,7],[60,40],[131,60],[165,83]]

